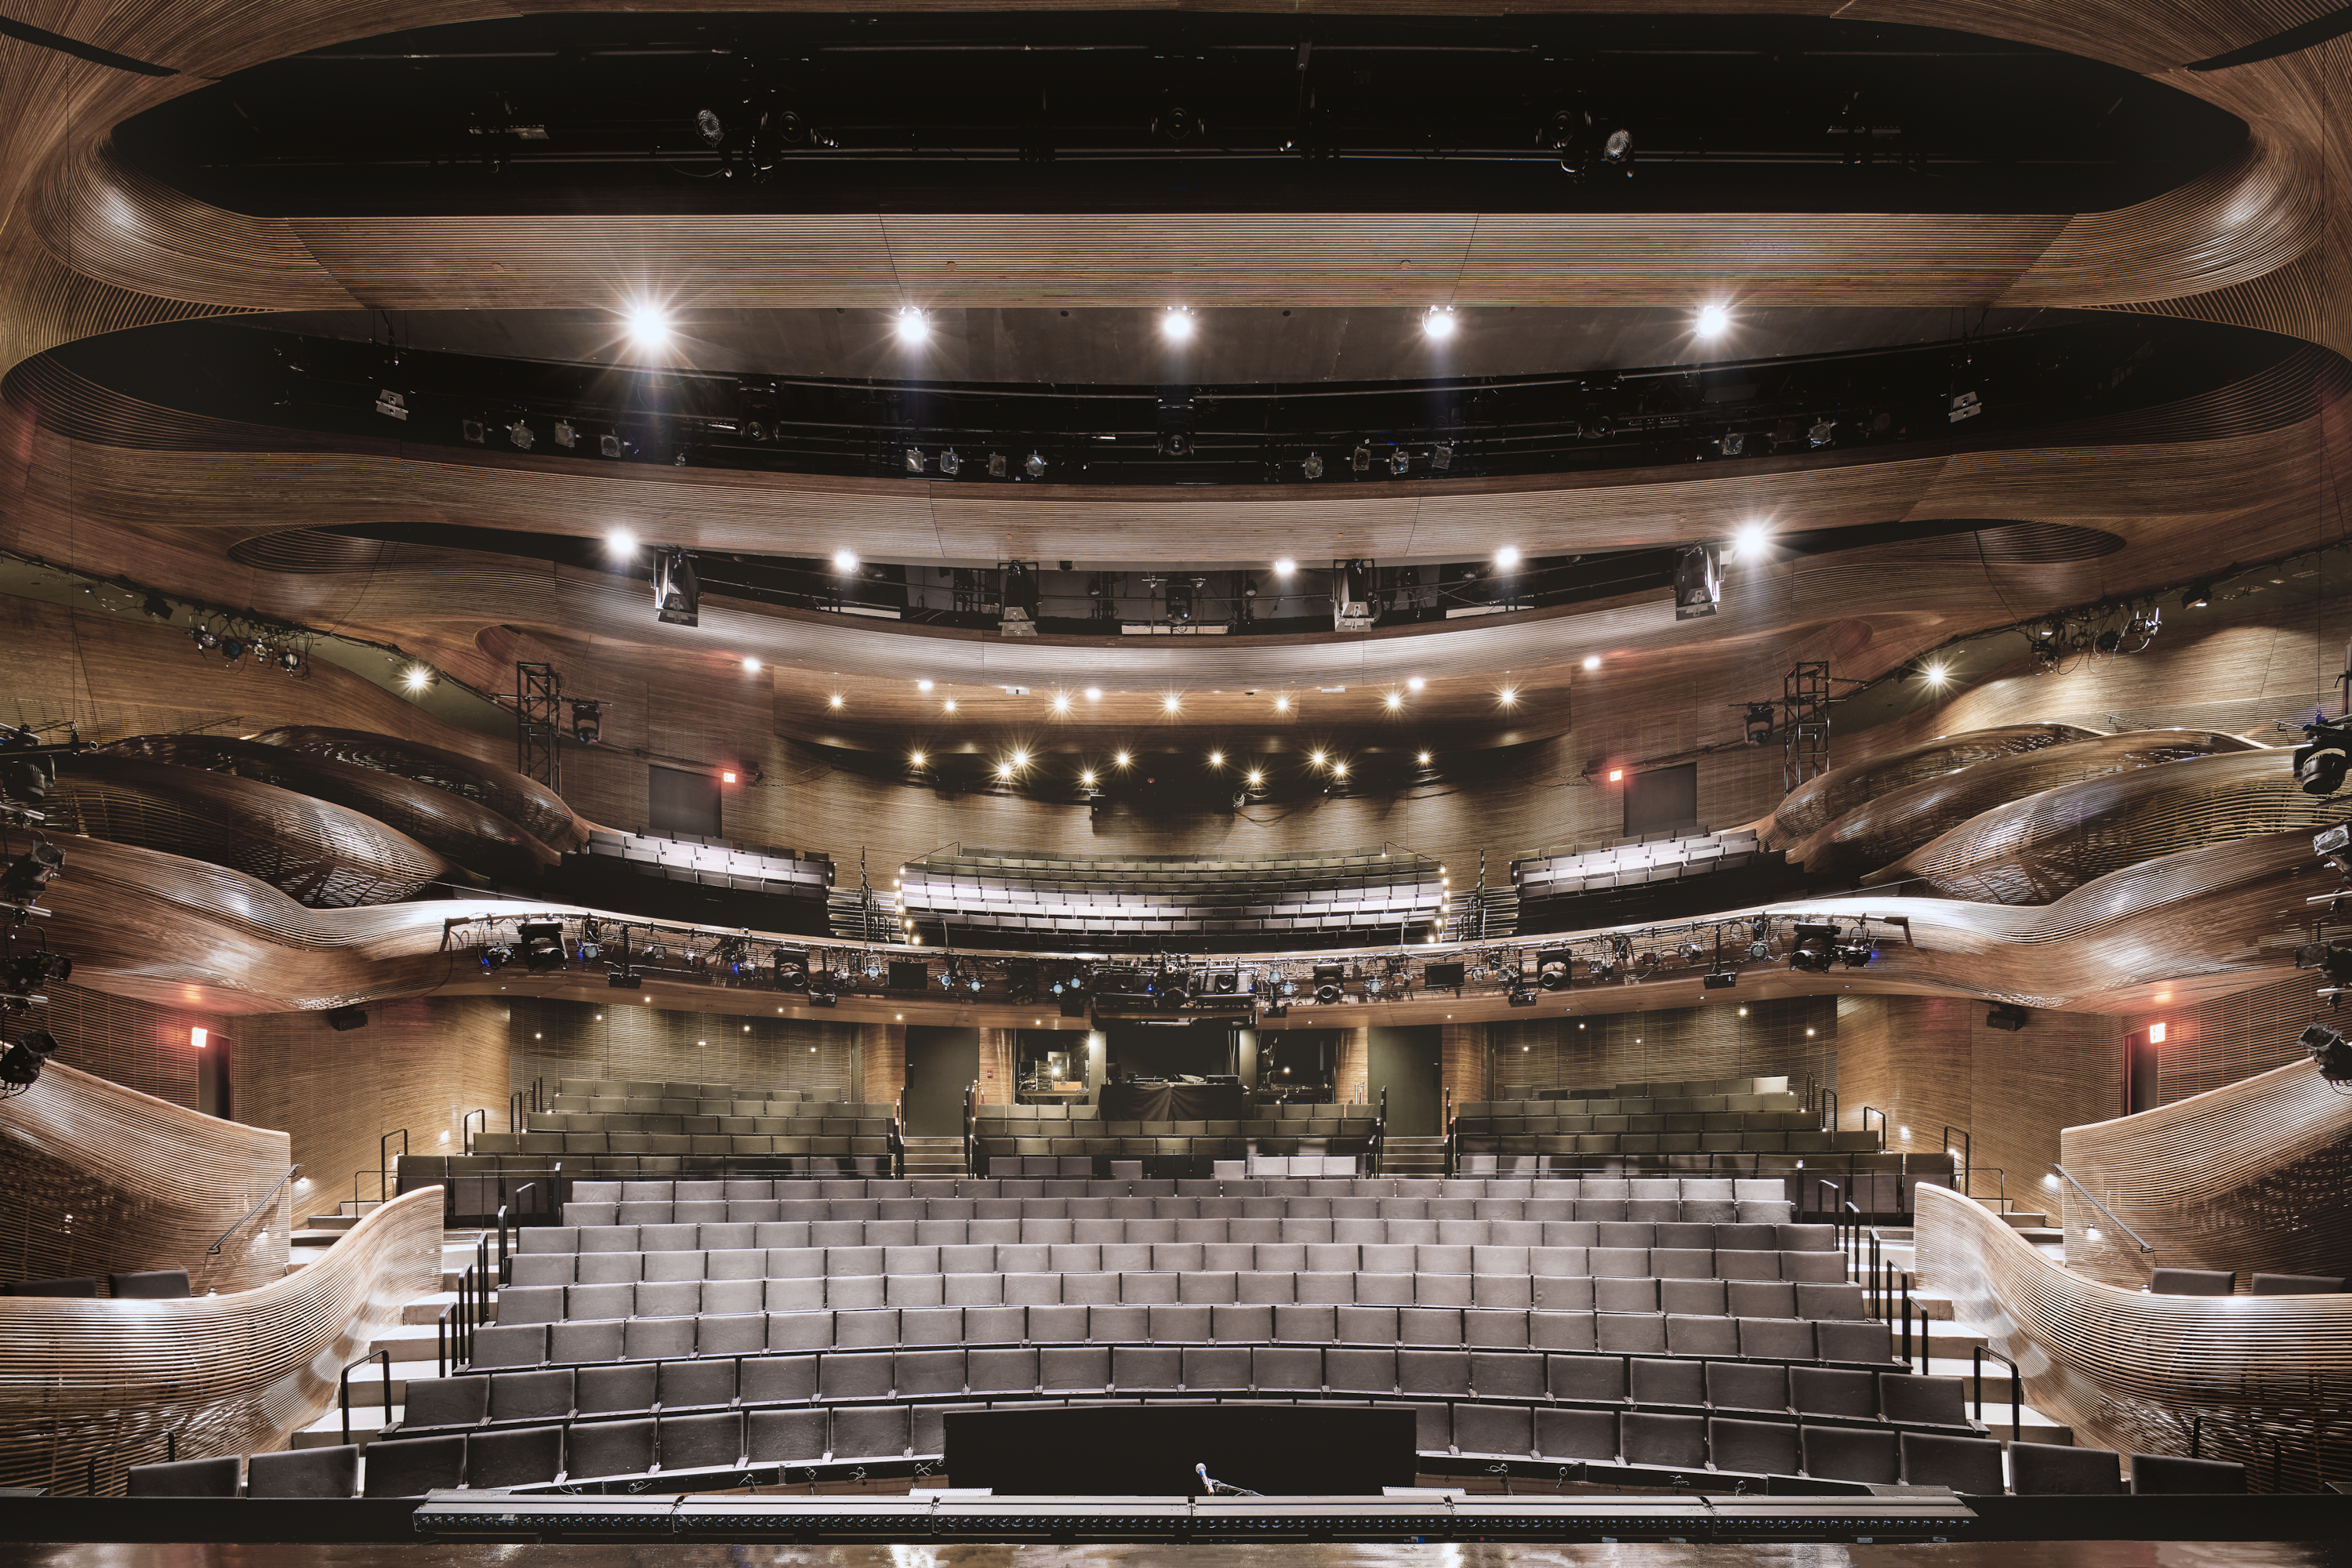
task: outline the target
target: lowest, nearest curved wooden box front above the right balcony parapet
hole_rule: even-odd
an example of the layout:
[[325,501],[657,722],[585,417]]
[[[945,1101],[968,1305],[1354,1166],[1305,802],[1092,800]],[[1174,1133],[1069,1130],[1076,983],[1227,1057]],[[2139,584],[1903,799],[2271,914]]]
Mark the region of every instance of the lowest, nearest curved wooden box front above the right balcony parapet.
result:
[[2286,750],[2105,773],[1994,806],[1863,877],[1940,898],[2049,903],[2112,870],[2270,832],[2317,832],[2343,804],[2305,795]]

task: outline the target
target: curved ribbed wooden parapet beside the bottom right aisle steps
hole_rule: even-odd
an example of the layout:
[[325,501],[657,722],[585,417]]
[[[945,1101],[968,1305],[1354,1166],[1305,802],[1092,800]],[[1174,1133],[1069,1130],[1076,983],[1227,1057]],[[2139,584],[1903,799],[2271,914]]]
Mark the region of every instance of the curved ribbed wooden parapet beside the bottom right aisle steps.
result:
[[[1990,1208],[1917,1199],[1919,1276],[2025,1368],[2025,1399],[2084,1446],[2239,1460],[2267,1490],[2343,1476],[2352,1432],[2352,1295],[2194,1298],[2119,1291],[2049,1262]],[[2317,1441],[2314,1441],[2317,1439]]]

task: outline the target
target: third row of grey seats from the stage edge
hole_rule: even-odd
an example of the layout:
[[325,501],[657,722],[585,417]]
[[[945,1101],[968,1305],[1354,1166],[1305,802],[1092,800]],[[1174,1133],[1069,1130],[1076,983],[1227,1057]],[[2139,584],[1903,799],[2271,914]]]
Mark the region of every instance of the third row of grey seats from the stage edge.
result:
[[[1082,1276],[1073,1276],[1082,1279]],[[830,1281],[816,1281],[830,1291]],[[884,1295],[873,1281],[873,1295]],[[597,1286],[602,1288],[602,1286]],[[619,1286],[644,1291],[649,1286]],[[708,1288],[708,1286],[703,1286]],[[1886,1324],[1863,1319],[1856,1286],[1820,1291],[1844,1316],[1700,1316],[1668,1312],[1529,1312],[1501,1307],[1357,1307],[1338,1302],[1120,1302],[1035,1307],[842,1307],[557,1319],[475,1328],[466,1363],[586,1366],[682,1356],[924,1345],[1411,1345],[1771,1361],[1889,1359]],[[1762,1302],[1792,1312],[1792,1298]]]

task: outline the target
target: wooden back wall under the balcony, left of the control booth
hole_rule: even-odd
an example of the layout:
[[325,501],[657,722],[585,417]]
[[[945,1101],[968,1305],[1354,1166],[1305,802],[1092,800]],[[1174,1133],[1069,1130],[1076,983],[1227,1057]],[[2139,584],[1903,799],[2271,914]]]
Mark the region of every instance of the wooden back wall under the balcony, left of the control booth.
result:
[[[546,1079],[663,1079],[677,1084],[736,1084],[797,1088],[818,1100],[856,1100],[851,1077],[858,1025],[793,1018],[781,1009],[703,1013],[644,1001],[642,992],[609,992],[604,1001],[506,994],[494,1001],[503,1025],[513,1088]],[[466,1006],[447,999],[442,1006]],[[889,1098],[889,1095],[884,1095]],[[492,1112],[506,1124],[506,1100]]]

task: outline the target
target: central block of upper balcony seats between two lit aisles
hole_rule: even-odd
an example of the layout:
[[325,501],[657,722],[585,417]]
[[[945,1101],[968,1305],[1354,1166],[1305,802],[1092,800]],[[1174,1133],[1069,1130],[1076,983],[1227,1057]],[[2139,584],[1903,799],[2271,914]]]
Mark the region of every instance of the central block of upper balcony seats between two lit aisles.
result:
[[1414,853],[1207,860],[962,851],[910,860],[898,896],[917,924],[985,931],[997,945],[1345,947],[1423,933],[1444,870]]

